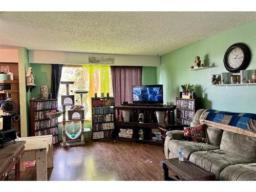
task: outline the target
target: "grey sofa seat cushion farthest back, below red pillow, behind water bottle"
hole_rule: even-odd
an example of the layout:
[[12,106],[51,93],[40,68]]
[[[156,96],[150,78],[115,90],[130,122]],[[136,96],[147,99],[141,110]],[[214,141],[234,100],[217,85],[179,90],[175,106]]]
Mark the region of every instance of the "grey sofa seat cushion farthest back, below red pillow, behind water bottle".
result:
[[209,145],[207,143],[197,143],[185,140],[170,140],[168,143],[169,151],[177,157],[179,156],[180,147],[183,148],[184,157],[187,159],[189,158],[189,155],[193,152],[217,150],[219,148],[218,146]]

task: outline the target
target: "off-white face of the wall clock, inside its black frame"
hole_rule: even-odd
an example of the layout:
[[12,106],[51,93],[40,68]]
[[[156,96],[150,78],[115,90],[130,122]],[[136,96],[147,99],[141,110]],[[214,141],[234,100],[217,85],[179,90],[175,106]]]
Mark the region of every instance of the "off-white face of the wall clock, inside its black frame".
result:
[[244,61],[244,52],[241,48],[236,47],[230,50],[227,55],[227,65],[231,69],[239,68]]

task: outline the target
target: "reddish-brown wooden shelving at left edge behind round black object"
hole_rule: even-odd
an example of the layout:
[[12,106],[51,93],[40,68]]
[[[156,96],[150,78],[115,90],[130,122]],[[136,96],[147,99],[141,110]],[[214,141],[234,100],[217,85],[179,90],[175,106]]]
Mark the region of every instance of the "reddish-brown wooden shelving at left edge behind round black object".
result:
[[[7,98],[7,93],[8,93],[9,98],[11,98],[15,104],[16,114],[20,114],[20,111],[19,111],[19,81],[18,80],[3,80],[3,81],[0,81],[0,84],[1,83],[5,83],[5,84],[9,83],[11,86],[11,89],[0,91],[0,98],[5,100]],[[20,120],[13,121],[13,128],[16,130],[18,136],[20,136]]]

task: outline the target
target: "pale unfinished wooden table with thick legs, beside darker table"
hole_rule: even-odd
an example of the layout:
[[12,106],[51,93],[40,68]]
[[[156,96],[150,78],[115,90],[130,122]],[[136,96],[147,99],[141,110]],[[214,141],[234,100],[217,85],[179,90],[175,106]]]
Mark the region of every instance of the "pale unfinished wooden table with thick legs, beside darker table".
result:
[[52,135],[22,137],[26,141],[24,155],[20,159],[20,171],[24,171],[24,162],[36,160],[37,181],[47,181],[47,168],[53,167]]

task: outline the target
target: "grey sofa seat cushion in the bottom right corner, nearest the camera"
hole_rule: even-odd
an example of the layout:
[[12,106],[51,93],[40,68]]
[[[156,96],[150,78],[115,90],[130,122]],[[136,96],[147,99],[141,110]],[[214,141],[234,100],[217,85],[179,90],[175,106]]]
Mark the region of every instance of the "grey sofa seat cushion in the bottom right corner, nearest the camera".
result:
[[229,165],[220,174],[223,181],[256,181],[256,163]]

